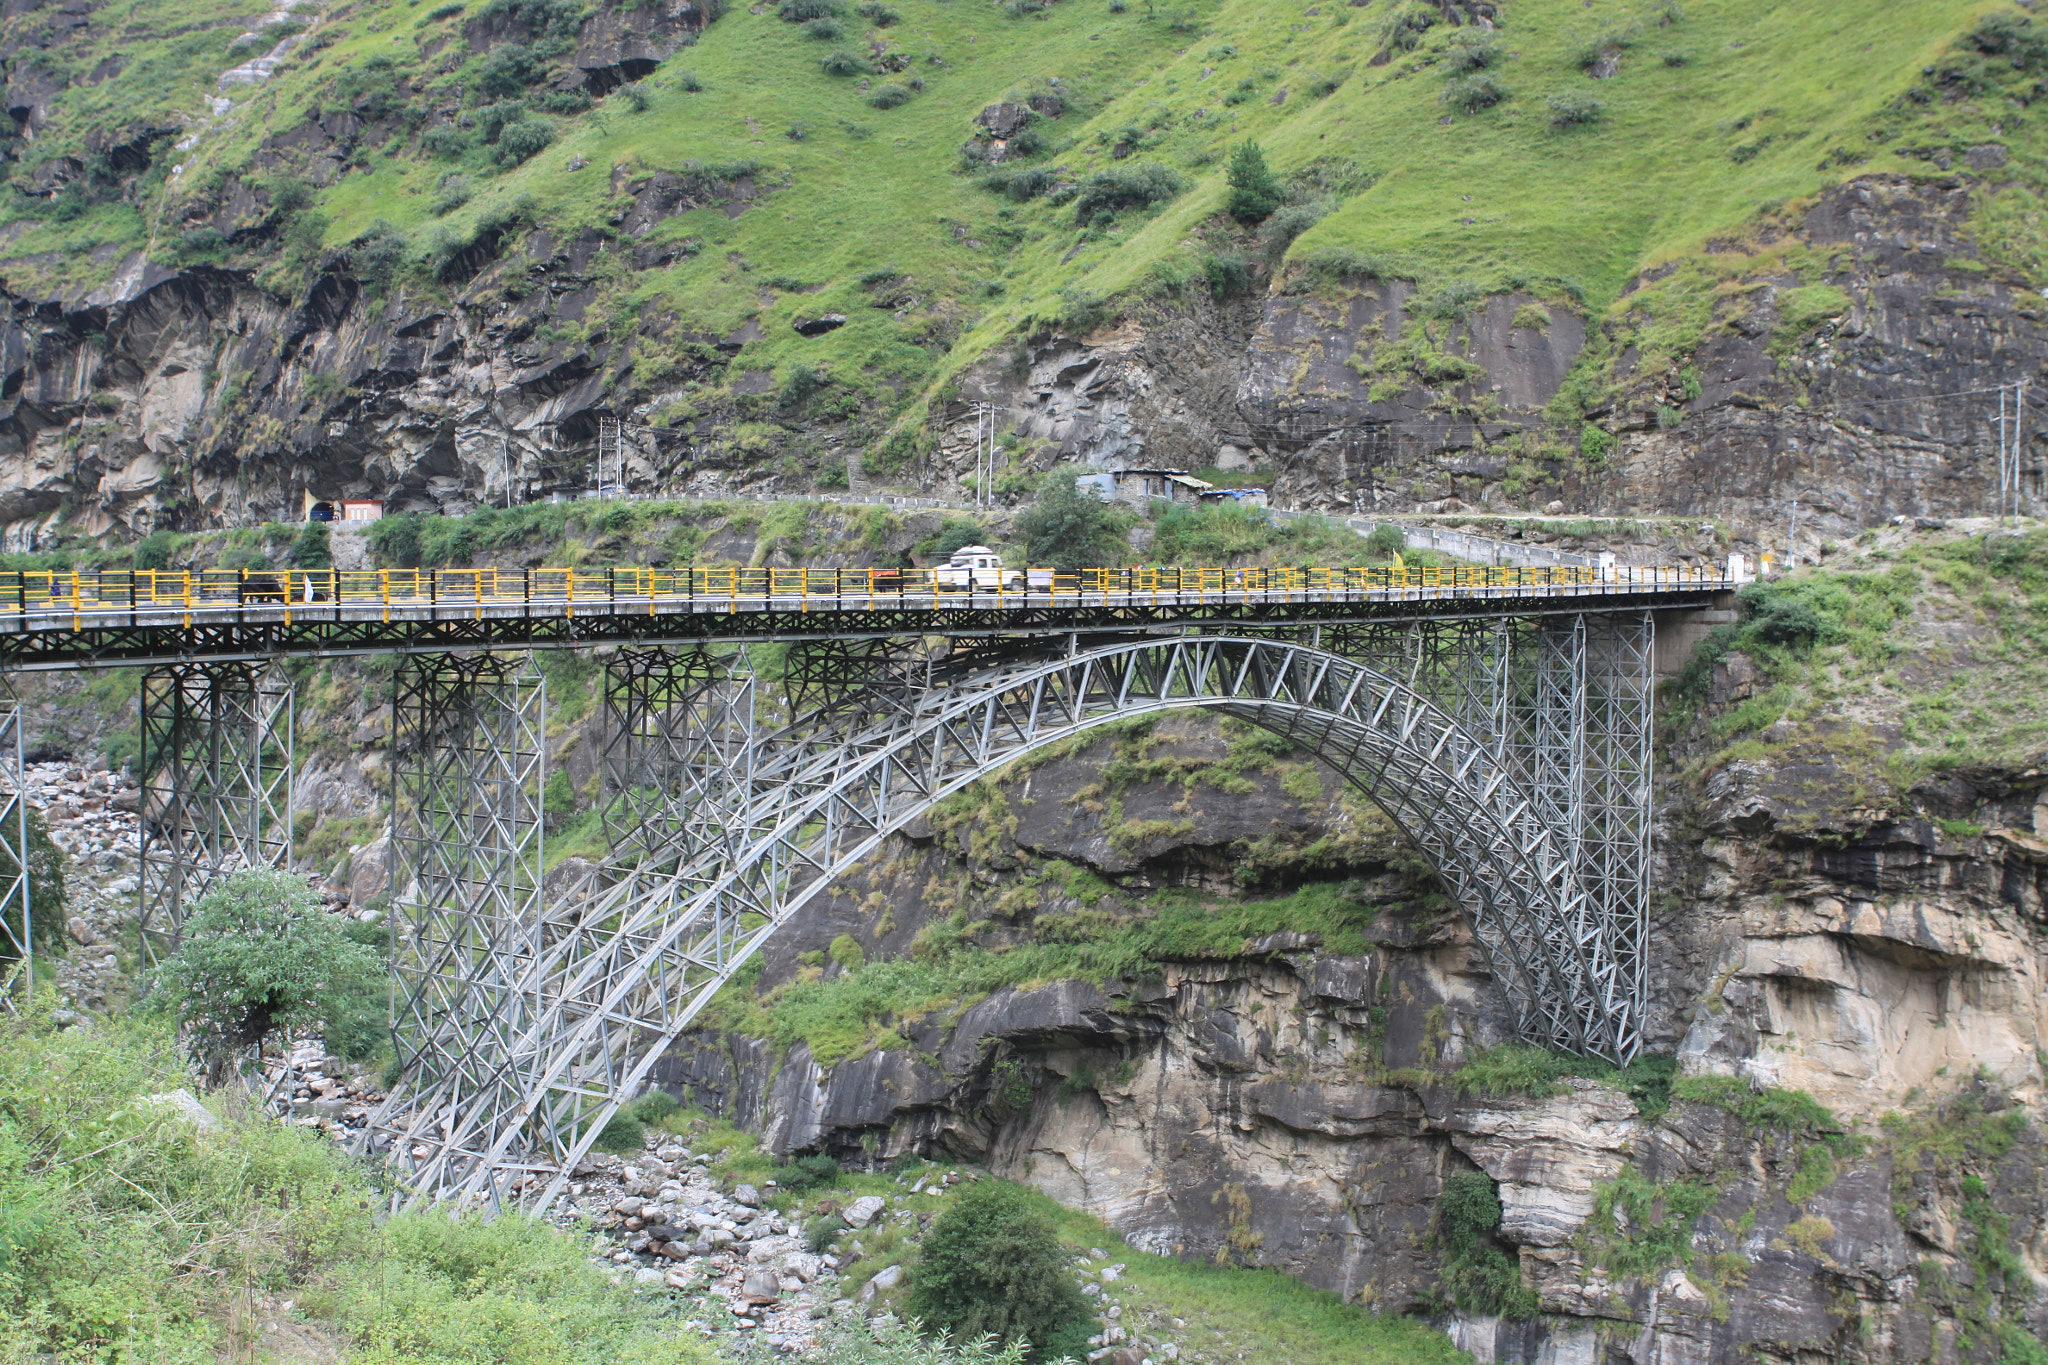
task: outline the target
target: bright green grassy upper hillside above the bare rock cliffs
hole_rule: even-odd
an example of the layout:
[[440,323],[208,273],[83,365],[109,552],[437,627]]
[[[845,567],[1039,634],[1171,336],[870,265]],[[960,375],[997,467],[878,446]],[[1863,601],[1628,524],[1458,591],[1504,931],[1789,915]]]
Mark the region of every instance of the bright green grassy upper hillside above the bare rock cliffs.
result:
[[[2011,188],[1985,190],[1982,246],[2023,274],[2048,262],[2048,139],[2023,117],[2048,43],[2011,0],[1513,0],[1491,35],[1446,20],[1473,6],[1417,0],[713,8],[694,45],[592,98],[561,65],[588,18],[573,0],[334,4],[270,82],[213,115],[217,72],[281,31],[231,49],[248,0],[111,4],[12,59],[16,84],[72,84],[16,143],[6,278],[82,289],[141,246],[291,295],[346,250],[373,291],[451,293],[465,246],[502,252],[530,225],[612,241],[635,178],[688,174],[719,203],[600,252],[596,299],[541,327],[610,346],[678,422],[743,370],[823,379],[819,401],[846,411],[922,411],[1020,332],[1085,327],[1135,293],[1257,289],[1266,270],[1298,287],[1413,278],[1442,315],[1509,287],[1632,311],[1632,340],[1679,358],[1733,280],[1808,278],[1812,321],[1839,303],[1825,262],[1774,239],[1776,215],[1991,141]],[[39,25],[6,27],[23,41]],[[115,51],[131,59],[106,78]],[[1065,111],[1036,117],[1012,145],[1024,156],[963,151],[979,111],[1034,94]],[[182,141],[143,125],[182,125]],[[154,147],[147,172],[123,170],[123,137]],[[1288,192],[1255,229],[1223,213],[1247,139]],[[59,156],[82,170],[49,190]],[[248,186],[262,199],[238,201]],[[209,205],[242,205],[225,239],[186,227]],[[670,264],[625,250],[664,241]],[[1683,268],[1624,299],[1661,266]],[[791,325],[829,311],[850,319],[829,336]],[[758,340],[717,364],[702,344],[750,321]],[[1567,407],[1597,397],[1614,350],[1589,348]]]

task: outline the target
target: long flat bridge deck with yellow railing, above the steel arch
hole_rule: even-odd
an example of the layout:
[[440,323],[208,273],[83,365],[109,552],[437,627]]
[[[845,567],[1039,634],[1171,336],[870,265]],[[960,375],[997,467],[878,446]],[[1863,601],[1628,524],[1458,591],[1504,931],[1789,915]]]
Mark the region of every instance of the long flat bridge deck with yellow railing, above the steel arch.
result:
[[1087,569],[948,591],[909,569],[0,573],[0,667],[563,649],[625,641],[1047,634],[1696,606],[1702,569]]

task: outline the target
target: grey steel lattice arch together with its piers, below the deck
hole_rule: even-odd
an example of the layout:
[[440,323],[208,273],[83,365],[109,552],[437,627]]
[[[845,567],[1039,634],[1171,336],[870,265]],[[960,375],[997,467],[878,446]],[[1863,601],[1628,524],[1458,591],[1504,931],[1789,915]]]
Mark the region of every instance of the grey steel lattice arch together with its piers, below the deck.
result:
[[1651,630],[1628,610],[817,641],[791,651],[786,712],[739,647],[618,649],[614,857],[547,909],[539,684],[487,655],[410,665],[410,1066],[367,1144],[416,1199],[551,1195],[713,993],[891,831],[1040,745],[1180,708],[1278,731],[1370,794],[1470,917],[1524,1038],[1624,1062],[1645,1013]]

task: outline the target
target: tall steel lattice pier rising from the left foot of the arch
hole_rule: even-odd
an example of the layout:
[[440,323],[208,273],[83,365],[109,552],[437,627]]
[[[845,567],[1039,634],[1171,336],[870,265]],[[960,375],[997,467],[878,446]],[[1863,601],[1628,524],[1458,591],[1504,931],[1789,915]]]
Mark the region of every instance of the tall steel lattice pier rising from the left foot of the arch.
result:
[[[575,935],[545,917],[541,896],[547,684],[520,655],[426,655],[397,671],[391,718],[401,1089],[469,1105],[518,1072],[543,1013],[535,964]],[[391,1128],[391,1111],[371,1132],[422,1189],[451,1156],[438,1134],[524,1117],[422,1105]]]

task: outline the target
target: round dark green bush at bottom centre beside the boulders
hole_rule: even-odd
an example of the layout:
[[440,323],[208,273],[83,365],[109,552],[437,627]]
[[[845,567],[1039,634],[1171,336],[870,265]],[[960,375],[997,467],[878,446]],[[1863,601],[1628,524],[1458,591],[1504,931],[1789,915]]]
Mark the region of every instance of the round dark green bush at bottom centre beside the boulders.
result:
[[1030,1342],[1057,1359],[1094,1328],[1053,1222],[1014,1185],[969,1185],[924,1238],[909,1312],[956,1342]]

